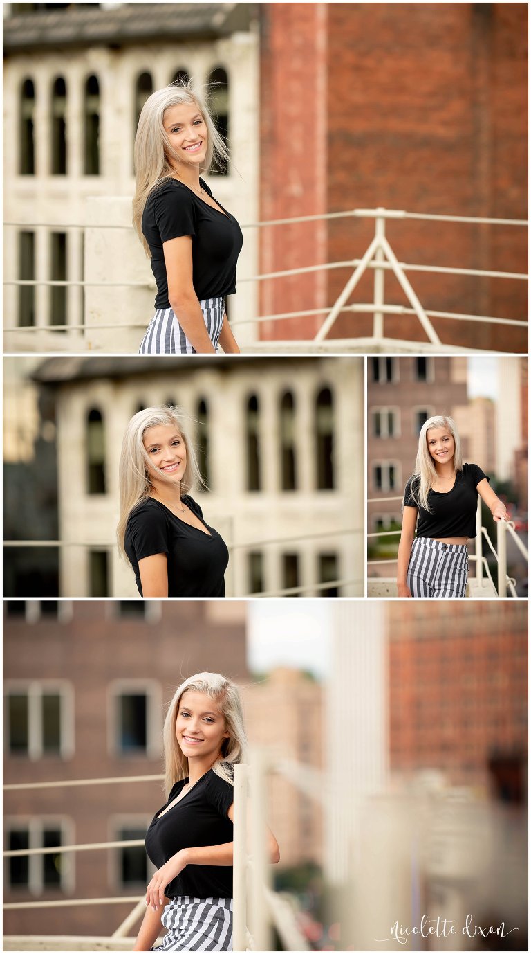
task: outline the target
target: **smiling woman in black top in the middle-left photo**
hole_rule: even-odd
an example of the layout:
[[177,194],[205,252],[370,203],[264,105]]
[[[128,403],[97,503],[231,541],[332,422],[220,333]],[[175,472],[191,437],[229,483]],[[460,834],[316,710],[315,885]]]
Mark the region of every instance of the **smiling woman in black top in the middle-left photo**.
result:
[[229,550],[188,491],[204,487],[177,407],[138,411],[119,467],[118,549],[141,596],[224,596]]

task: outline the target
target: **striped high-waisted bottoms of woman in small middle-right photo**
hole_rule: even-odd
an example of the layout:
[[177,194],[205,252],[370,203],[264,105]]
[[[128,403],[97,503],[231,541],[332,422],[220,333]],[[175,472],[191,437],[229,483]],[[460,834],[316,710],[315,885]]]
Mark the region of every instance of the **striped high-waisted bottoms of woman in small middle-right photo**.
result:
[[416,537],[407,570],[411,595],[420,599],[463,599],[468,580],[466,544]]

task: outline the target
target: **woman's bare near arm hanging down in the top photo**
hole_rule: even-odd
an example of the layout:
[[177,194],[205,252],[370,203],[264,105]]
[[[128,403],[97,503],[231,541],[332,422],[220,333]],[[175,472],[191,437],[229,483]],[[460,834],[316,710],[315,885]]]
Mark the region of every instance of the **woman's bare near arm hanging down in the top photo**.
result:
[[180,236],[163,242],[168,276],[168,301],[189,342],[197,354],[214,354],[201,305],[194,292],[192,237]]

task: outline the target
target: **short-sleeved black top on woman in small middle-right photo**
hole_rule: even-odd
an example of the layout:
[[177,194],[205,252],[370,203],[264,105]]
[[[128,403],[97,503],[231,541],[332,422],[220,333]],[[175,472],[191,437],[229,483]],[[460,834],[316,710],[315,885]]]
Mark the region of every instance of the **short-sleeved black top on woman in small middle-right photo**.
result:
[[404,507],[419,510],[417,523],[418,537],[476,536],[476,508],[478,503],[478,484],[489,478],[477,464],[463,464],[456,473],[454,486],[448,493],[439,490],[428,491],[428,503],[431,508],[425,510],[416,503],[412,487],[419,486],[419,475],[410,477],[404,492]]

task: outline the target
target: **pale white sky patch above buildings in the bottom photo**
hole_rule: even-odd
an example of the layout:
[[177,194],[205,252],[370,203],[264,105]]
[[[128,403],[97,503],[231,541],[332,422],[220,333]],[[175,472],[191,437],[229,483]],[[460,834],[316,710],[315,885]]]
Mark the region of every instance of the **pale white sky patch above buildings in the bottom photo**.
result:
[[290,666],[325,677],[330,666],[331,610],[328,599],[250,600],[247,656],[251,672]]

